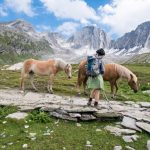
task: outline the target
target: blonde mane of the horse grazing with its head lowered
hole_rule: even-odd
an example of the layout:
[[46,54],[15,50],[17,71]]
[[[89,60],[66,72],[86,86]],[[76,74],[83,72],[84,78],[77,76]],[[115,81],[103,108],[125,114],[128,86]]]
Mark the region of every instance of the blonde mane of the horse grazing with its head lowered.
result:
[[129,81],[131,79],[131,75],[132,75],[133,80],[135,82],[137,82],[136,75],[132,71],[130,71],[128,68],[126,68],[122,65],[119,65],[119,64],[115,64],[115,63],[114,63],[114,66],[115,66],[115,69],[117,70],[118,74],[120,75],[120,77],[127,78]]

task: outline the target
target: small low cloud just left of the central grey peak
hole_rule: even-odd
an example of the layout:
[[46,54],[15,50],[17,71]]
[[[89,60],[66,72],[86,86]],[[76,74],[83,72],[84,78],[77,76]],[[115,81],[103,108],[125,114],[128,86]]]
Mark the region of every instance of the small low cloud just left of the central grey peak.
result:
[[62,25],[57,27],[56,31],[60,32],[61,34],[65,36],[70,36],[74,32],[76,32],[79,26],[80,24],[75,23],[75,22],[64,22]]

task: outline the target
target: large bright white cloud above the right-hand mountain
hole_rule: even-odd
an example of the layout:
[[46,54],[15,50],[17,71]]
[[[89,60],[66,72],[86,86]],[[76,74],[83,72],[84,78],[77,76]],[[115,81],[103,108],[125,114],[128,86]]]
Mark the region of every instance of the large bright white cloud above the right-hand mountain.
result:
[[98,10],[102,24],[119,36],[150,20],[150,0],[113,0]]

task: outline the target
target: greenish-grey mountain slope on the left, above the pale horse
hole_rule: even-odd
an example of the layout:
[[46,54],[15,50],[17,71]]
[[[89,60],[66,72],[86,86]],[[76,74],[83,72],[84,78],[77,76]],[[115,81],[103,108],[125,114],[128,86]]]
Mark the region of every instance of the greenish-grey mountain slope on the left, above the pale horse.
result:
[[23,20],[0,24],[0,53],[40,55],[52,52],[49,42]]

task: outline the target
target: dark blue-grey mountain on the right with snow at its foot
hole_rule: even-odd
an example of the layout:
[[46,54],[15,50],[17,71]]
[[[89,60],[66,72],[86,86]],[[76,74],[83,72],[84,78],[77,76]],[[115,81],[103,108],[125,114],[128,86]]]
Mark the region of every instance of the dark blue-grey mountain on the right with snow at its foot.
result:
[[111,48],[118,49],[120,54],[137,54],[142,48],[150,49],[150,21],[112,41]]

